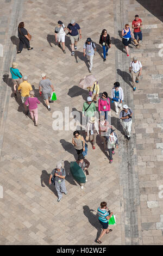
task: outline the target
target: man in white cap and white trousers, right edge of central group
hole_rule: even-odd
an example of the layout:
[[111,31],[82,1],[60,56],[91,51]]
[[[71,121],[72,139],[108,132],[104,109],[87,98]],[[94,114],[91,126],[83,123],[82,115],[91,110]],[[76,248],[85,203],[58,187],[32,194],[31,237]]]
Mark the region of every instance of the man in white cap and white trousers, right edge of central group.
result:
[[133,111],[131,111],[127,105],[123,105],[123,109],[120,112],[120,118],[122,119],[124,137],[127,138],[128,141],[131,136],[132,115]]

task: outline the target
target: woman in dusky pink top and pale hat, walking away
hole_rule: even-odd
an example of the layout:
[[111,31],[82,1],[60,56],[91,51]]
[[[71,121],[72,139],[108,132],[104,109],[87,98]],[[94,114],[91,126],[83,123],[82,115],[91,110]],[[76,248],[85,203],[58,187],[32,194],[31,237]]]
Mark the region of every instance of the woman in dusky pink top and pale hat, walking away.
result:
[[29,96],[25,102],[26,105],[28,105],[30,115],[32,117],[32,120],[35,120],[35,126],[37,126],[37,120],[38,120],[38,108],[37,104],[40,104],[40,101],[35,97],[34,90],[31,90],[29,92]]

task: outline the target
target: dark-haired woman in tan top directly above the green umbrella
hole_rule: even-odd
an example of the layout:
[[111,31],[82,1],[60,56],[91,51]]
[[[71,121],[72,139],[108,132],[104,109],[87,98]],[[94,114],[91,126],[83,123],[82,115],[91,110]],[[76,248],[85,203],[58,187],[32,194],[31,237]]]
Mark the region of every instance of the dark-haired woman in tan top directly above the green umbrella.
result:
[[74,145],[74,149],[76,149],[78,156],[85,151],[85,141],[82,135],[80,135],[79,131],[74,131],[72,138],[72,144]]

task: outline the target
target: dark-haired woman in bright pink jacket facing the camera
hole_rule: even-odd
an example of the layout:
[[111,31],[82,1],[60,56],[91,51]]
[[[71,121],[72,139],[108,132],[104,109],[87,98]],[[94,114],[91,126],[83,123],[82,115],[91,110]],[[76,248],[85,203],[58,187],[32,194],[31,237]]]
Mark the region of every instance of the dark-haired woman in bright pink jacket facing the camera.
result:
[[98,111],[100,114],[105,115],[105,120],[108,120],[108,112],[110,111],[110,100],[108,93],[103,92],[102,97],[98,100]]

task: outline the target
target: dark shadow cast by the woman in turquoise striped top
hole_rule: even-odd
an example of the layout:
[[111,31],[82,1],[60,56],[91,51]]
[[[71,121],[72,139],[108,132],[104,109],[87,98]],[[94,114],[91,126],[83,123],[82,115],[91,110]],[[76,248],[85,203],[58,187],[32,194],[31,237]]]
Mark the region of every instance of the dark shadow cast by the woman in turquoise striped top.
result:
[[96,213],[93,214],[93,209],[90,209],[89,206],[87,205],[84,205],[83,206],[83,214],[87,217],[89,223],[97,229],[97,235],[96,235],[96,239],[95,239],[95,242],[97,242],[97,239],[98,237],[100,236],[101,234],[101,231],[102,231],[102,227],[101,227],[101,224],[99,223],[98,221],[98,214]]

